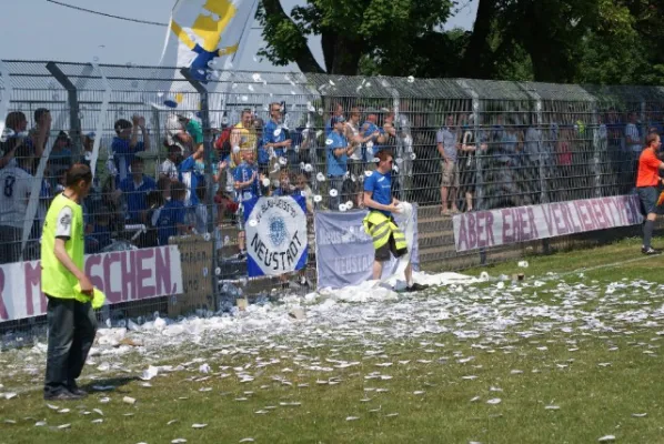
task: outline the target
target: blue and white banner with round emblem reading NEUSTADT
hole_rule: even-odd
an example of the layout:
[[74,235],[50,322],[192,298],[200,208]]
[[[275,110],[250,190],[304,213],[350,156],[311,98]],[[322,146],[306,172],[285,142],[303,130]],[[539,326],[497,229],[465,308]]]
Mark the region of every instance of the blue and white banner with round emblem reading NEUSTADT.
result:
[[306,265],[306,200],[301,195],[242,202],[249,276],[279,276]]

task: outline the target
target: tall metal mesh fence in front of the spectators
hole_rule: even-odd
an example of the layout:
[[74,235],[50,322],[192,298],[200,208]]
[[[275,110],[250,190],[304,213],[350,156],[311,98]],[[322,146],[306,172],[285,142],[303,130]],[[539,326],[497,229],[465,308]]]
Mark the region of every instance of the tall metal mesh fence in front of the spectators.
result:
[[[270,72],[213,72],[201,84],[172,68],[39,61],[2,62],[0,97],[1,263],[39,259],[46,211],[74,162],[94,167],[83,203],[88,254],[178,244],[184,289],[140,301],[128,291],[100,313],[112,322],[235,310],[237,299],[276,296],[290,281],[306,291],[304,276],[314,285],[313,248],[302,275],[247,278],[234,178],[242,161],[255,164],[262,195],[304,191],[310,213],[345,211],[362,206],[365,172],[390,149],[393,192],[419,205],[420,263],[461,269],[624,235],[457,254],[447,215],[627,194],[645,135],[664,124],[662,88]],[[341,170],[326,149],[332,115],[344,115],[355,148]],[[275,140],[290,142],[265,145]]]

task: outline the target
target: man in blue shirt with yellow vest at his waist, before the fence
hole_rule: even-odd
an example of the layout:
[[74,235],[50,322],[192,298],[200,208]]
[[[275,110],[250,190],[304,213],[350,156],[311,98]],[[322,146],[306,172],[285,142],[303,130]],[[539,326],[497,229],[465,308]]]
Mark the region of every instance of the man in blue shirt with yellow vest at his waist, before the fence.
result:
[[[388,150],[379,151],[376,170],[364,181],[364,206],[371,211],[364,218],[364,230],[373,239],[375,256],[373,261],[373,280],[378,281],[383,274],[383,262],[390,260],[390,255],[401,258],[409,253],[405,235],[392,218],[393,212],[400,212],[399,201],[392,196],[392,164],[394,157]],[[404,271],[406,291],[420,291],[426,289],[413,282],[413,268],[409,262]]]

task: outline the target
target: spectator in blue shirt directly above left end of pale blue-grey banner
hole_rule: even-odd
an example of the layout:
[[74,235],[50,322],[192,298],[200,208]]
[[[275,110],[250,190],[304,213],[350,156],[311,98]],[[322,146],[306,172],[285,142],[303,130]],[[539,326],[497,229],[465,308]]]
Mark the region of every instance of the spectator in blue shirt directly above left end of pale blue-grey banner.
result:
[[344,135],[345,119],[343,115],[332,118],[332,123],[334,124],[334,131],[325,140],[325,151],[330,191],[336,190],[336,196],[330,195],[330,210],[338,210],[342,196],[348,196],[345,175],[348,172],[348,158],[353,152],[353,147]]

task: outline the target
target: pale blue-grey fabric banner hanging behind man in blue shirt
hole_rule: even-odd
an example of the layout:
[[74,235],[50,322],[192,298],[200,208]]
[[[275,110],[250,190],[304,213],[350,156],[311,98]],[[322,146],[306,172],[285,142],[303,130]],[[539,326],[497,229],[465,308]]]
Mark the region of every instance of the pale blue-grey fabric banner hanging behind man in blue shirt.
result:
[[[318,287],[341,289],[359,285],[372,279],[374,249],[372,240],[364,231],[362,220],[366,210],[349,212],[314,213],[315,259],[318,269]],[[399,215],[394,215],[400,223]],[[417,249],[417,211],[413,205],[412,221],[414,240],[411,246],[413,270],[420,265]],[[383,278],[394,274],[398,261],[383,264]]]

